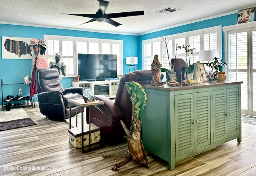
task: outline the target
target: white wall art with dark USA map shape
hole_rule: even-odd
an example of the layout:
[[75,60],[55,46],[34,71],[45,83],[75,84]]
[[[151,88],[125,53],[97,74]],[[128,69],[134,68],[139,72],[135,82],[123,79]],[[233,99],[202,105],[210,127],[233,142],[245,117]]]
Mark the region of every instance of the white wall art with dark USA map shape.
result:
[[32,59],[30,38],[2,36],[2,59]]

